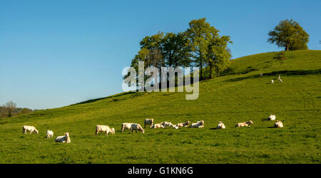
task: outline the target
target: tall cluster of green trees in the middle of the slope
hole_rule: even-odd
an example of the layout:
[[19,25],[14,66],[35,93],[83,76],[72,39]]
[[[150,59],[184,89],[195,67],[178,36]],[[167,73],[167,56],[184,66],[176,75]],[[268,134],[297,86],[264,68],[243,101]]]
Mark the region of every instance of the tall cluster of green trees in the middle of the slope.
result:
[[[228,67],[231,53],[228,49],[230,36],[220,36],[219,30],[206,19],[192,20],[186,31],[178,33],[158,32],[146,36],[140,42],[141,49],[131,61],[131,67],[138,71],[138,62],[144,62],[144,68],[156,67],[190,67],[200,68],[200,80],[203,80],[203,69],[210,70],[218,76]],[[126,78],[127,76],[124,76]]]

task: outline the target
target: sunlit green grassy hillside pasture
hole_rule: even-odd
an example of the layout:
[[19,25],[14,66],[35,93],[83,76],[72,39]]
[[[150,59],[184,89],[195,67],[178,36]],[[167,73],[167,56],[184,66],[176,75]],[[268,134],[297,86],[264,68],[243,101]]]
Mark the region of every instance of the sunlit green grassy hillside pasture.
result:
[[[224,76],[185,93],[120,93],[63,108],[0,120],[0,163],[320,163],[321,51],[276,52],[232,61]],[[263,77],[259,77],[259,73]],[[283,83],[277,81],[281,75]],[[270,80],[275,79],[274,84]],[[264,120],[275,114],[284,128]],[[122,122],[146,117],[173,124],[205,120],[204,128],[121,133]],[[222,120],[225,130],[215,130]],[[253,120],[252,127],[235,128]],[[95,136],[96,125],[116,135]],[[23,135],[34,125],[39,135]],[[46,139],[70,132],[71,143]]]

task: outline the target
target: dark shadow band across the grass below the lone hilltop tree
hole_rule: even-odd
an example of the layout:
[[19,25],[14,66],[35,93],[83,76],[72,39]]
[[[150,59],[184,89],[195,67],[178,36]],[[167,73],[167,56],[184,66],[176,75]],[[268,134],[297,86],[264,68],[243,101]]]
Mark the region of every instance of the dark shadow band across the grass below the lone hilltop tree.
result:
[[[273,71],[272,73],[263,73],[263,76],[275,76],[275,75],[310,75],[310,74],[320,74],[321,69],[315,69],[315,70],[278,70]],[[245,80],[249,78],[260,78],[258,74],[256,75],[250,75],[246,77],[240,77],[240,78],[232,78],[228,79],[226,81],[228,82],[236,82],[240,80]]]

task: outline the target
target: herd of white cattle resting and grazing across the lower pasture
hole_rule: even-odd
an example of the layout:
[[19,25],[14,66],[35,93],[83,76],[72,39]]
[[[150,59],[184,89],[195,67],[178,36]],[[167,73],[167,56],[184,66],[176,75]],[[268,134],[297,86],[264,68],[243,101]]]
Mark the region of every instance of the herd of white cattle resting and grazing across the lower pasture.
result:
[[[276,117],[275,115],[270,115],[269,117],[267,117],[267,120],[275,120]],[[179,127],[196,127],[196,128],[202,128],[204,127],[204,120],[200,120],[196,123],[192,123],[190,124],[190,121],[187,120],[185,122],[181,122],[178,123],[177,125],[173,125],[171,122],[161,122],[159,124],[154,124],[154,120],[153,119],[146,119],[144,120],[144,127],[149,126],[150,128],[153,129],[157,129],[157,128],[166,128],[166,127],[173,127],[175,129],[178,129]],[[240,122],[237,123],[235,125],[235,127],[250,127],[250,125],[253,125],[253,121],[249,120],[246,122]],[[274,127],[277,128],[282,128],[283,124],[280,120],[277,120],[274,123]],[[222,121],[218,122],[218,126],[216,127],[216,129],[225,129],[225,125]],[[137,123],[122,123],[121,124],[121,132],[124,132],[125,130],[131,130],[131,132],[142,132],[144,133],[145,130],[143,129],[143,127],[141,127],[140,124]],[[29,131],[30,135],[33,132],[36,132],[36,134],[39,134],[39,131],[36,130],[36,127],[34,126],[29,126],[29,125],[24,125],[22,127],[22,132],[24,134],[26,134],[26,132]],[[98,135],[99,132],[105,132],[106,135],[111,134],[111,135],[115,135],[115,128],[111,128],[108,125],[96,125],[96,135]],[[47,138],[52,138],[54,136],[54,132],[51,130],[47,130],[46,132]],[[70,137],[69,137],[69,132],[65,132],[63,133],[63,136],[58,136],[55,139],[55,142],[66,142],[66,143],[70,143]]]

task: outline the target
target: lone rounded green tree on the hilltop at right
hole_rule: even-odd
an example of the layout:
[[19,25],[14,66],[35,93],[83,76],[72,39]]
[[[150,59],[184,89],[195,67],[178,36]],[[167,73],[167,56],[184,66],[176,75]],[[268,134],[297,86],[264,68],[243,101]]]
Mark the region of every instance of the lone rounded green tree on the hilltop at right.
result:
[[285,51],[307,49],[309,34],[292,19],[280,21],[273,31],[268,33],[267,42],[284,47]]

